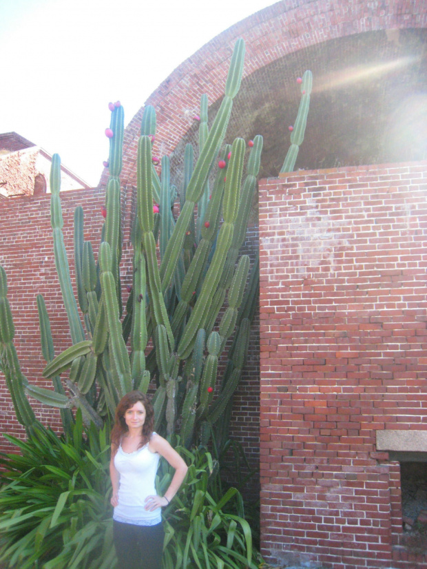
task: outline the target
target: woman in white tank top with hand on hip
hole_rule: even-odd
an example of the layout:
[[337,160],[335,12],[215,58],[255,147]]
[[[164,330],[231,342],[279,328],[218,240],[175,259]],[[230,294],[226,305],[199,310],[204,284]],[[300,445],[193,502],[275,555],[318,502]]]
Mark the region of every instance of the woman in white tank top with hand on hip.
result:
[[[160,569],[163,555],[161,509],[176,495],[187,465],[174,448],[153,432],[154,410],[147,395],[127,393],[116,408],[110,476],[113,487],[114,546],[121,569]],[[175,468],[163,496],[154,481],[160,456]]]

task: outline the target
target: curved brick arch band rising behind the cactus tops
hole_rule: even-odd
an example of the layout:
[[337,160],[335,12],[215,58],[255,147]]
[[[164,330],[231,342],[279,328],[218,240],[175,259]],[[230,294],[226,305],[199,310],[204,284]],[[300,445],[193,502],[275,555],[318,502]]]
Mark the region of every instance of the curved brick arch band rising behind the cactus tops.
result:
[[[290,5],[291,4],[291,5]],[[365,0],[280,1],[236,23],[213,38],[184,61],[154,91],[145,105],[158,114],[154,152],[171,154],[194,125],[200,96],[208,93],[209,104],[223,94],[229,61],[236,39],[246,43],[244,77],[274,61],[324,41],[375,30],[427,27],[427,5],[419,0],[372,3]],[[136,149],[143,107],[125,130],[122,182],[136,178]],[[101,176],[105,184],[107,173]]]

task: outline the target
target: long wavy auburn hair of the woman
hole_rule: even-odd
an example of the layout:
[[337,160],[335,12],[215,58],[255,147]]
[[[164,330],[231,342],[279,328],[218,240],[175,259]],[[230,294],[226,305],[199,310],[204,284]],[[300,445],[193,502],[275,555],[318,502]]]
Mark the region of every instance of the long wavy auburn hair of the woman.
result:
[[138,448],[147,443],[152,435],[154,428],[154,408],[145,393],[142,391],[129,391],[118,403],[116,408],[116,416],[114,417],[114,427],[111,432],[112,442],[112,455],[114,456],[118,451],[121,439],[129,430],[125,421],[125,413],[127,409],[131,408],[140,401],[145,408],[145,422],[143,424],[143,437],[138,444]]

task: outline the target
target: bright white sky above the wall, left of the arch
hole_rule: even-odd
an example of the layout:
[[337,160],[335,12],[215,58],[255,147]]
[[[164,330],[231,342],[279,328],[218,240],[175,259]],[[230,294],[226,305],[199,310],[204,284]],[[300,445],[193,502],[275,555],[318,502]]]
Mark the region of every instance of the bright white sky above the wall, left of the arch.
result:
[[187,57],[272,3],[0,0],[0,133],[58,153],[96,186],[108,157],[108,103],[121,101],[127,125]]

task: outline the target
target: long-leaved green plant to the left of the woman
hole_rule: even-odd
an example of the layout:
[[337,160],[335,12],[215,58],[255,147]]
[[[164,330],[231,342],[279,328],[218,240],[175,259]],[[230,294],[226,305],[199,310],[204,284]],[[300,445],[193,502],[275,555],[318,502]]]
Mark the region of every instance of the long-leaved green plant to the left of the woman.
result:
[[26,442],[5,436],[20,454],[0,457],[0,562],[110,569],[108,426],[98,431],[92,424],[83,433],[78,412],[67,441],[42,426]]

